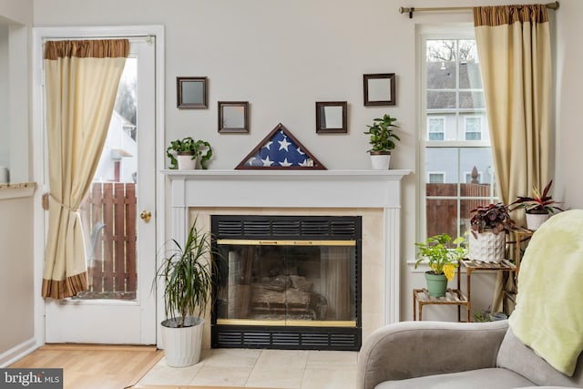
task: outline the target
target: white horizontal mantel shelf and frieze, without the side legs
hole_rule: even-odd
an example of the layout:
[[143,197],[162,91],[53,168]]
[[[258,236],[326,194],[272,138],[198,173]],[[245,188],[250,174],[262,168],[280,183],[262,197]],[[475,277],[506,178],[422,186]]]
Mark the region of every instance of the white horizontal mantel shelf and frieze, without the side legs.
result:
[[[172,181],[174,206],[392,208],[400,207],[400,181],[411,170],[199,169],[162,173]],[[185,197],[190,190],[196,194]]]

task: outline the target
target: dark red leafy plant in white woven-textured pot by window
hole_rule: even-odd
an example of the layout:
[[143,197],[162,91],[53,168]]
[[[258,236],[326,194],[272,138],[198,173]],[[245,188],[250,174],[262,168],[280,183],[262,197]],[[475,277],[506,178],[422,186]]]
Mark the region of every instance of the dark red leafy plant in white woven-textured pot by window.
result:
[[470,220],[469,253],[471,260],[502,261],[505,257],[506,230],[514,226],[508,206],[501,202],[476,207]]

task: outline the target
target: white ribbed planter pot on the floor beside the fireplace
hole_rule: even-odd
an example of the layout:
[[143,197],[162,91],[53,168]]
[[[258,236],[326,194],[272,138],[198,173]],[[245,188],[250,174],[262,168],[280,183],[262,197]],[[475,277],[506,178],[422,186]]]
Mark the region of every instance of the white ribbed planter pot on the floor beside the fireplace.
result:
[[189,327],[170,328],[162,322],[162,342],[166,363],[170,367],[186,367],[198,363],[202,348],[202,328],[204,319],[187,317]]

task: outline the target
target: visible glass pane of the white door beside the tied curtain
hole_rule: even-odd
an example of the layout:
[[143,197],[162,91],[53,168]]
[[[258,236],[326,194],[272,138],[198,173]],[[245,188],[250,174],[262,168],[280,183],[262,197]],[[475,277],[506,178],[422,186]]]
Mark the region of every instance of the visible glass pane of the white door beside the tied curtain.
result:
[[106,143],[79,210],[89,282],[89,290],[77,295],[80,299],[136,299],[137,66],[137,58],[126,60]]

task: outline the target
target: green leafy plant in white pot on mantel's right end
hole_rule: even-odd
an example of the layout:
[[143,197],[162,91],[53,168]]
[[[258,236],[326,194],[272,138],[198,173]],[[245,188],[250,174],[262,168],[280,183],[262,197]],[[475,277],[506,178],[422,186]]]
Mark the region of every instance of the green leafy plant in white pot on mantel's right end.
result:
[[399,126],[393,124],[396,120],[396,118],[391,118],[390,115],[385,114],[383,118],[374,118],[373,126],[366,126],[368,131],[365,131],[364,134],[370,135],[369,143],[373,146],[368,150],[371,155],[373,169],[389,169],[391,150],[396,146],[394,142],[395,140],[401,140],[394,133],[394,128],[399,128]]

